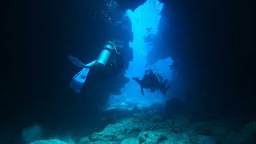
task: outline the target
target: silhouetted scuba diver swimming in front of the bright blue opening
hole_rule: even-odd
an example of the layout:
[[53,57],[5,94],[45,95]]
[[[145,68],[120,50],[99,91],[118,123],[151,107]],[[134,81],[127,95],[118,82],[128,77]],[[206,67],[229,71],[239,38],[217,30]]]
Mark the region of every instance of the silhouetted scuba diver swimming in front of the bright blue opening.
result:
[[142,80],[139,78],[133,78],[133,80],[141,86],[142,95],[144,95],[143,89],[150,89],[151,92],[160,90],[162,94],[166,95],[166,91],[170,88],[170,85],[167,86],[167,79],[163,81],[162,76],[154,73],[153,70],[146,70]]

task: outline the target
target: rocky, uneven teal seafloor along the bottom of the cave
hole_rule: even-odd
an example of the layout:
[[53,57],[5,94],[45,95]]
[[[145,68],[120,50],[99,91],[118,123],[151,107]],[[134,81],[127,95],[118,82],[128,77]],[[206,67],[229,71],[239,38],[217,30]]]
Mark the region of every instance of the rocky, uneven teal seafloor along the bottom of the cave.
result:
[[256,143],[256,122],[245,118],[197,120],[190,114],[170,114],[161,108],[110,110],[109,124],[101,131],[75,138],[43,139],[30,144],[179,144],[179,143]]

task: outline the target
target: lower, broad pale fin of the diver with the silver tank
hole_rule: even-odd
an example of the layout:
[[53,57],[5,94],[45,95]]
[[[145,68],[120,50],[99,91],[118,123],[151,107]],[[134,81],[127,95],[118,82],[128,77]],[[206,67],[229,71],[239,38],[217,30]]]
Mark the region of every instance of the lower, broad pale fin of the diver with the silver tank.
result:
[[86,82],[87,74],[89,73],[88,68],[83,68],[78,74],[74,76],[70,82],[70,87],[77,93],[82,90],[83,83]]

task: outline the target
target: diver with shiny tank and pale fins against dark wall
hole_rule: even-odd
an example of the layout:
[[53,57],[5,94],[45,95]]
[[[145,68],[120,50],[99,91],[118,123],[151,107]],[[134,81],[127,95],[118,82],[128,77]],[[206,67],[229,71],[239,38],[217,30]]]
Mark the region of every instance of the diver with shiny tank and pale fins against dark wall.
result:
[[74,75],[74,78],[70,82],[70,87],[77,93],[80,93],[84,82],[86,82],[87,74],[90,69],[102,70],[105,73],[118,73],[118,70],[122,68],[121,55],[119,53],[119,48],[114,41],[106,42],[106,45],[103,47],[102,52],[99,54],[98,59],[84,64],[72,56],[68,56],[70,61],[74,66],[82,68],[78,74]]

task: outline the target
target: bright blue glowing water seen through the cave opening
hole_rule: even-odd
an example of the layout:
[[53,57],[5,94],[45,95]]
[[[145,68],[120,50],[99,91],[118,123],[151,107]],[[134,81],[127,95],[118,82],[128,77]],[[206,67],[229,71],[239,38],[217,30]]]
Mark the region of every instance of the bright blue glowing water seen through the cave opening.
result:
[[158,60],[152,65],[147,64],[147,55],[150,49],[154,49],[154,47],[150,46],[150,42],[147,42],[146,38],[154,39],[154,36],[158,34],[163,6],[163,3],[158,2],[158,0],[147,0],[144,4],[138,6],[136,10],[127,10],[126,16],[130,18],[134,35],[133,41],[130,42],[134,58],[129,63],[125,75],[130,78],[130,82],[126,83],[125,87],[122,88],[122,94],[110,96],[108,108],[117,106],[129,108],[135,105],[141,107],[166,102],[166,97],[159,91],[150,93],[145,90],[145,96],[142,96],[140,86],[131,79],[133,77],[142,78],[144,71],[149,68],[158,71],[164,78],[171,78],[170,65],[173,62],[171,58]]

